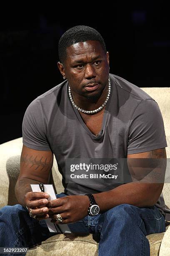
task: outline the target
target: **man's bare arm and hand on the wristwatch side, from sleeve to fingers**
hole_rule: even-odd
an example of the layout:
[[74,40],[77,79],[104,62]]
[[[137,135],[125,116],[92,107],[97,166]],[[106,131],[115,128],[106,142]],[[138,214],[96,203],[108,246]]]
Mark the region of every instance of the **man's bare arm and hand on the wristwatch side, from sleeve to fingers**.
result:
[[[138,159],[137,167],[133,164],[134,158]],[[121,204],[130,204],[137,207],[150,207],[155,205],[162,192],[163,182],[159,183],[158,177],[156,177],[157,183],[151,182],[152,180],[154,181],[155,176],[153,177],[151,175],[150,177],[150,173],[156,169],[156,175],[162,172],[164,176],[166,164],[164,164],[165,161],[160,161],[162,165],[159,164],[159,166],[155,166],[155,162],[157,161],[153,161],[153,163],[151,161],[151,164],[154,166],[153,170],[150,170],[151,168],[148,166],[146,170],[145,165],[142,165],[143,162],[145,163],[144,159],[164,159],[166,161],[165,148],[128,155],[128,167],[132,178],[139,177],[140,179],[128,184],[122,184],[119,187],[106,192],[93,194],[100,207],[100,213]],[[140,172],[138,166],[143,166],[140,168]],[[144,173],[144,175],[141,175],[142,173]],[[74,223],[87,215],[89,199],[84,195],[70,195],[50,201],[48,207],[49,214],[58,214],[62,212],[61,216],[64,219],[62,222],[63,224]]]

